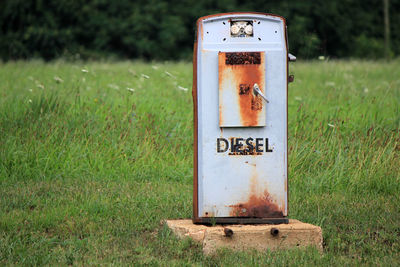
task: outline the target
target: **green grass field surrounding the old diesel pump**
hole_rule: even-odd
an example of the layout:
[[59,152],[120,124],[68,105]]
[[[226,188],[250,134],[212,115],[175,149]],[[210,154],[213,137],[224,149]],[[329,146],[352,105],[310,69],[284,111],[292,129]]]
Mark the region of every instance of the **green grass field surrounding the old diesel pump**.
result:
[[0,265],[400,265],[400,62],[296,62],[290,218],[315,249],[202,255],[191,63],[0,64]]

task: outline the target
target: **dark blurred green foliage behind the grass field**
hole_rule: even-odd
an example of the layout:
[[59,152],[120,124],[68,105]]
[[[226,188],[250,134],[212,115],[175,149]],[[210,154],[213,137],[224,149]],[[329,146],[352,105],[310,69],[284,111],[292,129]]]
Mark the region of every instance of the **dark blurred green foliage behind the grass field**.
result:
[[[400,0],[389,7],[393,57]],[[232,11],[285,17],[299,58],[385,55],[383,0],[2,0],[0,58],[190,59],[196,19]]]

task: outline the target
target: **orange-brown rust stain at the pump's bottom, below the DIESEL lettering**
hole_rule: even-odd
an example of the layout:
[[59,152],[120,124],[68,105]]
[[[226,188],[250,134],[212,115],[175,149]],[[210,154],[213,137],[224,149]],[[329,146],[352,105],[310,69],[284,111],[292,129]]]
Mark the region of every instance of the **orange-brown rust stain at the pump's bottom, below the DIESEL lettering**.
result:
[[257,174],[251,177],[250,194],[247,202],[230,205],[230,216],[233,217],[255,217],[255,218],[282,218],[283,212],[273,202],[268,191],[265,189],[261,194],[258,192],[259,185]]

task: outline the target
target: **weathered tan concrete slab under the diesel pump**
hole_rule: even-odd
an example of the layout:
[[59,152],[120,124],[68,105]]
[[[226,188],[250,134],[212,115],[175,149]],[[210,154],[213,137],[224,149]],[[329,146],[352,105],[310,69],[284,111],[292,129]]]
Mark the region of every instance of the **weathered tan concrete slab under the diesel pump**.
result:
[[166,220],[167,226],[179,237],[190,237],[203,245],[204,254],[218,248],[259,251],[314,246],[322,252],[321,227],[298,220],[289,224],[215,225],[193,224],[190,219]]

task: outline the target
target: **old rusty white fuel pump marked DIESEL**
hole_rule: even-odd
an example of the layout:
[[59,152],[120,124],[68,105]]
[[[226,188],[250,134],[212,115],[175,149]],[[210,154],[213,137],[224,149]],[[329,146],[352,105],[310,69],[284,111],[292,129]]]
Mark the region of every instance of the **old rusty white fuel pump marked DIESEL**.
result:
[[288,223],[285,19],[197,21],[194,223]]

